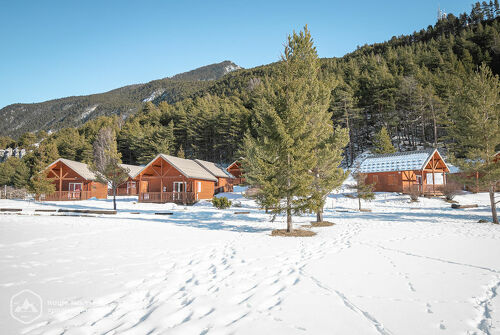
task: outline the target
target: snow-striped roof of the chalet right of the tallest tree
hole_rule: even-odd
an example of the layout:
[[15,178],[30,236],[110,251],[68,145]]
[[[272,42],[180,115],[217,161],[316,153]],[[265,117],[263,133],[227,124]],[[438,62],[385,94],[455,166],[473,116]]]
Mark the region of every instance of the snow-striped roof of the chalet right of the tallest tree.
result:
[[360,166],[362,173],[422,170],[436,149],[373,155]]

